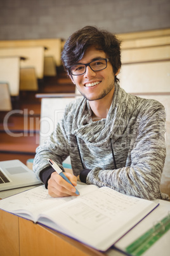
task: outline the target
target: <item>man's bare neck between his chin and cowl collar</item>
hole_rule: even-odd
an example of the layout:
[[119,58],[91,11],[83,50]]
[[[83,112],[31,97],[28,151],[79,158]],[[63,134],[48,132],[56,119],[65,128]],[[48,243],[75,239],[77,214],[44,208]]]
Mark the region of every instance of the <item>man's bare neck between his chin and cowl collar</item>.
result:
[[89,106],[93,111],[93,114],[91,116],[93,121],[101,120],[102,118],[107,118],[109,108],[112,104],[113,96],[114,94],[111,94],[96,101],[89,101]]

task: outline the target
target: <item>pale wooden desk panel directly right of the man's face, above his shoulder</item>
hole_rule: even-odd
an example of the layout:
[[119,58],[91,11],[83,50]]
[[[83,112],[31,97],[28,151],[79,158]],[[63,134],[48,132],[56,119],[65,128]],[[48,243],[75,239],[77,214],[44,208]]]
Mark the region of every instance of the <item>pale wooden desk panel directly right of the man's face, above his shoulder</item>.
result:
[[[117,76],[120,86],[128,93],[170,92],[170,61],[122,65]],[[145,74],[145,75],[144,75]]]

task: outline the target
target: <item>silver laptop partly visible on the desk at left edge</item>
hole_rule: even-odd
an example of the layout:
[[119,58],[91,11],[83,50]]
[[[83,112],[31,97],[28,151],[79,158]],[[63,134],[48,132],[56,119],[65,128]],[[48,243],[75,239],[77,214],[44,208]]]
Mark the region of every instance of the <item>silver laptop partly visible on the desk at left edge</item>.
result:
[[42,183],[20,160],[0,161],[0,191]]

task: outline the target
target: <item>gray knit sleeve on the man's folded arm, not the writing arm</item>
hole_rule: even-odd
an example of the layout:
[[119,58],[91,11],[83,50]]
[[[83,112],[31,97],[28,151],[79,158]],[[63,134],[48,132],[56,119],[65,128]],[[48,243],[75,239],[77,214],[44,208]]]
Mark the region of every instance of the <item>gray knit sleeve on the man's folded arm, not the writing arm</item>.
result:
[[95,167],[88,173],[86,183],[150,200],[169,199],[159,187],[166,157],[165,119],[163,106],[154,113],[149,109],[141,113],[136,122],[131,163],[113,170]]

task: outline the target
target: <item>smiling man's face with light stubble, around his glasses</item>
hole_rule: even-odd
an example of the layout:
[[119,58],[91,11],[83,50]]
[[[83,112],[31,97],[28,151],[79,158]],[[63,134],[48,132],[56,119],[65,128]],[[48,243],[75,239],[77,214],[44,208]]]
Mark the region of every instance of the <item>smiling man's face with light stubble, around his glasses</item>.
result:
[[[90,46],[78,63],[86,64],[96,59],[105,59],[106,53],[103,50]],[[117,75],[117,74],[115,74]],[[70,76],[82,96],[89,101],[96,101],[104,97],[114,95],[114,72],[110,62],[107,62],[107,68],[101,71],[93,71],[89,66],[86,67],[86,73],[79,76]]]

